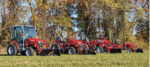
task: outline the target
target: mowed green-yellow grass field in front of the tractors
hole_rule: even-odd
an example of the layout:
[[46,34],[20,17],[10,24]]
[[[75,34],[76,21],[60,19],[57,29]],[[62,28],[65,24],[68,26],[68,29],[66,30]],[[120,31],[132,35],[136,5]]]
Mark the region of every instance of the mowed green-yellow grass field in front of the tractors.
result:
[[7,56],[0,54],[0,67],[148,67],[149,51],[144,53],[101,53],[97,55]]

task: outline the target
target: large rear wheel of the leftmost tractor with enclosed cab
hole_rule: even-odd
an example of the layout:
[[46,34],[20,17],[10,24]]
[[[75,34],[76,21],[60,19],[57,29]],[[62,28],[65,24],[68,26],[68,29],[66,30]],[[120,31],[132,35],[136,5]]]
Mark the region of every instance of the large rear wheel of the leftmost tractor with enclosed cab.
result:
[[14,44],[8,45],[7,54],[8,55],[17,55],[18,54],[17,48]]

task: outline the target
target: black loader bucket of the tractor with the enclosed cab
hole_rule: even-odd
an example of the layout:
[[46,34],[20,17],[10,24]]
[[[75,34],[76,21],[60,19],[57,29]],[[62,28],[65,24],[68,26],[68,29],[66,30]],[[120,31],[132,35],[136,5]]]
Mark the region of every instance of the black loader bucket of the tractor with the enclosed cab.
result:
[[43,49],[42,54],[43,56],[60,56],[59,49]]

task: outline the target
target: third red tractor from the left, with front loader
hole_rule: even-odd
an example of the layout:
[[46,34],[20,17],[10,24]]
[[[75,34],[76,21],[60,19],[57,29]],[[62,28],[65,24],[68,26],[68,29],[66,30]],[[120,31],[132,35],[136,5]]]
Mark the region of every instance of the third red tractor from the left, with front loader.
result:
[[[114,39],[115,39],[115,36],[114,36]],[[103,39],[95,39],[95,40],[89,41],[89,39],[87,38],[87,35],[85,35],[85,38],[81,40],[87,48],[89,49],[95,48],[97,53],[103,53],[103,52],[122,53],[121,51],[122,47],[121,45],[116,43],[116,40],[115,40],[115,43],[113,43],[113,42],[106,40],[105,37],[103,37]]]

